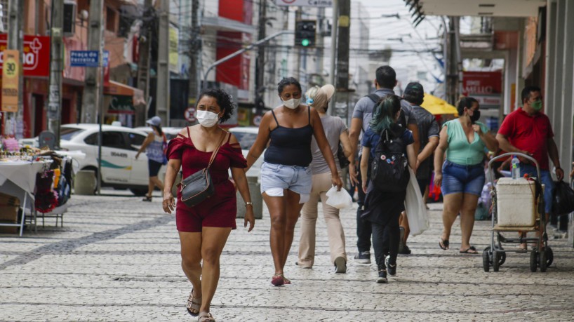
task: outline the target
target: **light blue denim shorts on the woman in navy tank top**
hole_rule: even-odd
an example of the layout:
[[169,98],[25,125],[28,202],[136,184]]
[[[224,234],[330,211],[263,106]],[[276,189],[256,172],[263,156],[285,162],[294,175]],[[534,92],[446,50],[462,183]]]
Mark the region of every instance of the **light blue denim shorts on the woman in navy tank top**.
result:
[[283,166],[263,162],[261,165],[261,193],[269,189],[289,189],[297,194],[311,193],[312,175],[309,167]]

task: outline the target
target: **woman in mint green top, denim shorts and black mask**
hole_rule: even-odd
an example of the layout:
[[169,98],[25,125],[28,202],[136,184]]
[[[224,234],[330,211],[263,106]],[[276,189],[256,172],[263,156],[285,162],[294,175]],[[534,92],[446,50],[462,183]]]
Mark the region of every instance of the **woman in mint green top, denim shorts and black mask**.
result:
[[477,122],[480,118],[478,101],[462,97],[457,110],[458,119],[444,123],[434,154],[434,185],[441,187],[443,193],[444,229],[439,246],[448,249],[450,229],[460,213],[460,253],[476,254],[476,248],[470,246],[470,235],[485,180],[484,148],[496,151],[498,142],[483,123]]

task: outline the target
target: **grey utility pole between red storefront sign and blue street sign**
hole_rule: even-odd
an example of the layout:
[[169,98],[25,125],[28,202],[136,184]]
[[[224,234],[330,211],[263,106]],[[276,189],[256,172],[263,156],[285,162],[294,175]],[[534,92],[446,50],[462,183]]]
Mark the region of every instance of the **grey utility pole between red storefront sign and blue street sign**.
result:
[[48,95],[48,130],[55,134],[55,147],[60,147],[62,120],[62,70],[64,1],[52,0],[50,29],[50,87]]

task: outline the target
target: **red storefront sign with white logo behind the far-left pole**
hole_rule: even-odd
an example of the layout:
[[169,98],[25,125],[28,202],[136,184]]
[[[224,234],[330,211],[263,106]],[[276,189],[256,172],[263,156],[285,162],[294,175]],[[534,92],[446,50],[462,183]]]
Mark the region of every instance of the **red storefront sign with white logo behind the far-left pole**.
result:
[[[0,67],[4,67],[2,52],[8,48],[6,34],[0,34]],[[50,37],[24,35],[22,55],[24,76],[48,76],[50,74]]]

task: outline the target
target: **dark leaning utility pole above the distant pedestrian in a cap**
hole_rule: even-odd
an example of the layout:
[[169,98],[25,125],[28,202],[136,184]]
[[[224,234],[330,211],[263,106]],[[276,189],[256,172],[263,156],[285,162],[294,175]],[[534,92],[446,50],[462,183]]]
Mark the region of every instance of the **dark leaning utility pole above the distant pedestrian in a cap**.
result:
[[[137,87],[144,92],[146,102],[149,102],[149,43],[152,42],[152,32],[149,31],[149,26],[152,25],[152,16],[154,9],[152,8],[152,0],[145,0],[144,3],[144,16],[140,33],[140,57],[138,60],[138,80]],[[144,119],[147,119],[147,110]]]

